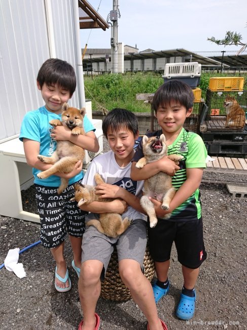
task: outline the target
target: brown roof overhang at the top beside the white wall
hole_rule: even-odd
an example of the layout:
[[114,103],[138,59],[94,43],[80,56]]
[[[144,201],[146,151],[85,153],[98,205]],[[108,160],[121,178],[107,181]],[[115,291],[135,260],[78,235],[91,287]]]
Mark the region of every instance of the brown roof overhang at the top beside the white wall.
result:
[[80,29],[84,28],[109,28],[109,24],[99,13],[86,1],[78,0]]

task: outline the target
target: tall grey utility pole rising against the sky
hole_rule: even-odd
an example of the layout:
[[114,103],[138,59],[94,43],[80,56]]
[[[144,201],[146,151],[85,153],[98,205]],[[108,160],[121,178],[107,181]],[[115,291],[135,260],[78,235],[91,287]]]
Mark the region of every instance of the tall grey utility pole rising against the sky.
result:
[[118,0],[113,0],[113,10],[110,11],[110,20],[112,21],[112,73],[118,73],[118,18],[120,18]]

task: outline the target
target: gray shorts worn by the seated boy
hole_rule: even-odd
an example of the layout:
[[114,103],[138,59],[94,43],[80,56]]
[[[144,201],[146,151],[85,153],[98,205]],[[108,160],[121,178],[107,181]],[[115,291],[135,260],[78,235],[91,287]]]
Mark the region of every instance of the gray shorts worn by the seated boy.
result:
[[[116,246],[118,260],[133,259],[139,262],[143,269],[143,260],[147,245],[147,222],[135,219],[125,232],[117,238],[105,236],[94,226],[86,227],[82,239],[82,262],[99,260],[104,265],[104,275],[107,271],[111,255]],[[101,279],[103,276],[101,276]]]

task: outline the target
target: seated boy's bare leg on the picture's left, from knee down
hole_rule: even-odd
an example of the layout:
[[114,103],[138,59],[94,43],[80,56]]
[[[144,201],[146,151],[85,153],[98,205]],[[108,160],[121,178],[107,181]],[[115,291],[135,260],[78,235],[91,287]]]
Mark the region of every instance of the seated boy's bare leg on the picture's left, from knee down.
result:
[[94,330],[95,308],[100,295],[100,274],[103,264],[99,260],[87,260],[82,263],[78,290],[83,311],[82,329]]

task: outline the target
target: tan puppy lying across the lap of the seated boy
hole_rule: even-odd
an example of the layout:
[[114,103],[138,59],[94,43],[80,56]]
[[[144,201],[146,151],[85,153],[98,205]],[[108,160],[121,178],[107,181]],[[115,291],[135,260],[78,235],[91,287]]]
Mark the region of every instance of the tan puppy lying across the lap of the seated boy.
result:
[[[96,184],[104,183],[101,176],[99,174],[95,174],[94,180]],[[78,206],[83,204],[90,204],[94,201],[100,202],[111,202],[113,199],[99,199],[99,195],[95,194],[95,187],[89,185],[75,184],[75,197],[72,200],[76,200],[78,202]],[[98,231],[104,235],[109,237],[117,237],[128,228],[131,221],[126,217],[122,220],[120,214],[117,213],[101,213],[99,214],[99,220],[91,219],[86,225],[94,226],[98,229]]]

